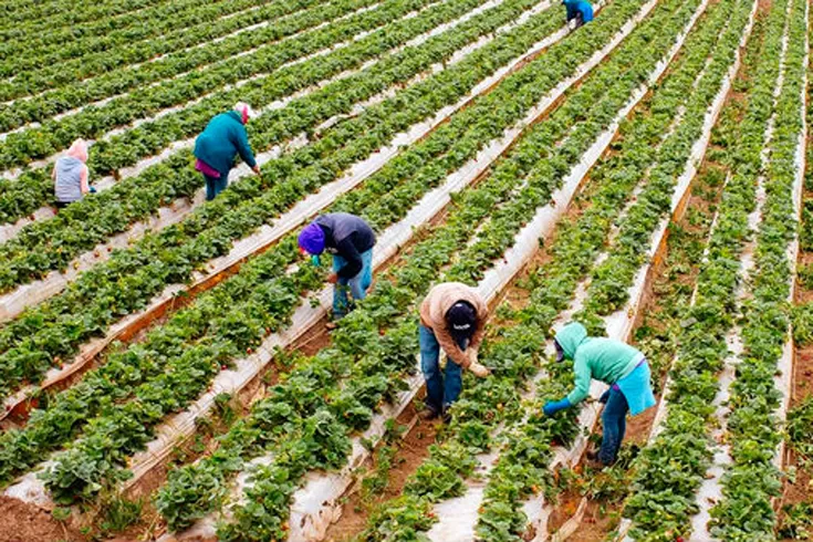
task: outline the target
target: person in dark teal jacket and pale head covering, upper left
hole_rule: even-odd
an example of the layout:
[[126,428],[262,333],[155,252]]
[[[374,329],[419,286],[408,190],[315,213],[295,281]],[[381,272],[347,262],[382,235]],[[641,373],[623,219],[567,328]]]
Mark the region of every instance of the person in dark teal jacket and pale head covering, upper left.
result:
[[254,154],[249,145],[246,124],[254,116],[251,107],[240,102],[232,111],[221,113],[206,126],[195,140],[195,169],[206,180],[206,200],[211,201],[229,186],[229,171],[234,165],[234,157],[240,158],[260,175]]

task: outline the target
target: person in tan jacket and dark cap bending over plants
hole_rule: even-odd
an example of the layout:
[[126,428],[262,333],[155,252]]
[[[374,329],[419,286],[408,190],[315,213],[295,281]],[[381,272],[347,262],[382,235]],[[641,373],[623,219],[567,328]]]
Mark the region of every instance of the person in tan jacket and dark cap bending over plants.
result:
[[[427,419],[442,415],[462,389],[463,368],[479,377],[489,369],[477,361],[482,342],[488,305],[473,288],[446,282],[432,288],[420,305],[420,368],[426,381]],[[440,374],[440,348],[448,357],[445,377]]]

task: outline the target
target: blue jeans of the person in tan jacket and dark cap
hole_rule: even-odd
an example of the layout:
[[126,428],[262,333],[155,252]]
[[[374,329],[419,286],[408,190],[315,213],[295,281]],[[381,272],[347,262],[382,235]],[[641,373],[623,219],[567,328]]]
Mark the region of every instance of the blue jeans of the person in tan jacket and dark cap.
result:
[[[440,374],[440,343],[435,333],[425,326],[418,331],[420,344],[420,371],[426,381],[426,404],[441,411],[457,400],[463,387],[462,369],[451,359],[446,361],[446,377]],[[466,350],[466,343],[459,345]]]

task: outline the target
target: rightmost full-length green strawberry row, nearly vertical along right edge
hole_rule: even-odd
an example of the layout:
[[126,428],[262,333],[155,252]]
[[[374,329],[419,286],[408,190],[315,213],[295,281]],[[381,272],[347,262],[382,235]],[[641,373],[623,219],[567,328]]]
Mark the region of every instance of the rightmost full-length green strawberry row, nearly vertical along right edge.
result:
[[788,23],[784,80],[776,101],[773,140],[765,168],[765,201],[757,236],[752,299],[743,306],[743,354],[731,385],[728,437],[732,463],[722,478],[722,500],[711,510],[711,532],[723,540],[773,540],[772,499],[781,493],[774,463],[783,435],[776,413],[783,394],[776,365],[790,341],[789,301],[795,260],[788,248],[798,231],[796,149],[803,137],[807,70],[807,2],[794,1]]

